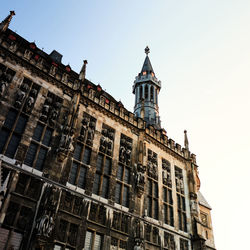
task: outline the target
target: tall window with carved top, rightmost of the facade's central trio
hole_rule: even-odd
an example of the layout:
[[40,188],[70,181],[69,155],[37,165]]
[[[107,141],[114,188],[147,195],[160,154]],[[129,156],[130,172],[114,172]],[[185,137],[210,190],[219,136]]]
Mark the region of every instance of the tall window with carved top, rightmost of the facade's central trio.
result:
[[121,134],[119,164],[116,174],[115,202],[129,207],[132,139]]

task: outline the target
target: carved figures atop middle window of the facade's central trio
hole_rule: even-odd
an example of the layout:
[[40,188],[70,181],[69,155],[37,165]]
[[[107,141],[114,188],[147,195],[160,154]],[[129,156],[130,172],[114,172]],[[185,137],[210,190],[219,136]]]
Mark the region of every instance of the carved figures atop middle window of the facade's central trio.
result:
[[114,130],[112,128],[104,127],[102,129],[99,151],[107,155],[112,155],[113,145],[114,145]]

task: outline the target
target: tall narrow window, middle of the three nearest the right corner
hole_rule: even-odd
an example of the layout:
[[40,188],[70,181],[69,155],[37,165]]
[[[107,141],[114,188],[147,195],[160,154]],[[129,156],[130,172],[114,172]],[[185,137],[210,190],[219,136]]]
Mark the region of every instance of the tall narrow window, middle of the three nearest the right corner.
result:
[[172,180],[170,162],[162,159],[164,223],[174,226]]

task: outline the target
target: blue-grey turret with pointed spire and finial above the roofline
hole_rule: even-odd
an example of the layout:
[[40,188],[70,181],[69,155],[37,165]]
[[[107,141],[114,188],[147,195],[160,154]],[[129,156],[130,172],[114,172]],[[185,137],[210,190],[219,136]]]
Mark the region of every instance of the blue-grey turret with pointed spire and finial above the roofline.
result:
[[146,58],[141,72],[135,78],[133,94],[135,94],[134,114],[144,119],[147,125],[161,128],[158,106],[158,94],[161,82],[155,76],[149,59],[149,48],[145,48]]

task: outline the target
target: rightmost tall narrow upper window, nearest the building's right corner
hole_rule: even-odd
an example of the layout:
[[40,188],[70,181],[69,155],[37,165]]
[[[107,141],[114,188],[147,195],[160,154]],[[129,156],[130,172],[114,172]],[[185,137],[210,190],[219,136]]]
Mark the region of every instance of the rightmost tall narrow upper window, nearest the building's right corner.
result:
[[175,183],[178,209],[179,229],[187,232],[186,201],[184,195],[183,173],[178,167],[175,167]]

